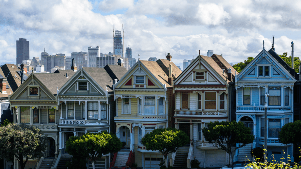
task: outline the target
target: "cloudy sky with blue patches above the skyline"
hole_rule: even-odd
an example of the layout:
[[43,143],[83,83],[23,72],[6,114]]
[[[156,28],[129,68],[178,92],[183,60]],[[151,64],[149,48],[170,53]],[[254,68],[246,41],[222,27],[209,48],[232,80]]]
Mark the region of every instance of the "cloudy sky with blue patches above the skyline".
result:
[[[301,51],[299,0],[0,0],[0,63],[16,62],[16,41],[29,41],[30,59],[87,52],[113,52],[114,30],[124,29],[124,48],[138,60],[184,59],[223,54],[228,63],[271,48],[294,56]],[[123,28],[122,28],[123,25]],[[125,52],[124,52],[125,53]]]

